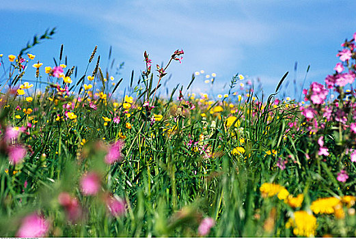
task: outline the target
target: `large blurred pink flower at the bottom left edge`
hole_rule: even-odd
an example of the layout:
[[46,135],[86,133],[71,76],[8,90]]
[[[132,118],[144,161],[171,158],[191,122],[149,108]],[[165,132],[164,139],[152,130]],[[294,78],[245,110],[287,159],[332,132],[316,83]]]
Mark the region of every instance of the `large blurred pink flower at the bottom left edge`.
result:
[[49,222],[42,216],[33,213],[26,216],[18,231],[16,237],[19,238],[43,238],[49,231]]

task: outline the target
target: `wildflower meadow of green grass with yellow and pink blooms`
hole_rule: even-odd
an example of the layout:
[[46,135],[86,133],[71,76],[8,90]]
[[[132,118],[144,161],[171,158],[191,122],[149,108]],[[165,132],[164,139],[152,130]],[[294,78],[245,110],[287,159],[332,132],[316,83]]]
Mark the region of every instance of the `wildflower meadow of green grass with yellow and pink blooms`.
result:
[[119,80],[96,48],[92,72],[36,60],[52,34],[0,55],[0,236],[356,236],[356,33],[301,102],[241,74],[213,100],[200,72],[159,97],[184,51]]

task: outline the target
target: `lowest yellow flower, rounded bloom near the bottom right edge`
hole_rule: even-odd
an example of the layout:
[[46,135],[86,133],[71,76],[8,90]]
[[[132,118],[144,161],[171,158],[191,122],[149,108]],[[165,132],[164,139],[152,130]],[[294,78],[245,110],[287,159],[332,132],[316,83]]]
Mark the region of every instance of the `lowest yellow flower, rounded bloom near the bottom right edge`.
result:
[[316,218],[305,211],[297,211],[293,214],[294,219],[289,219],[286,227],[294,227],[293,234],[296,236],[314,237],[316,231]]

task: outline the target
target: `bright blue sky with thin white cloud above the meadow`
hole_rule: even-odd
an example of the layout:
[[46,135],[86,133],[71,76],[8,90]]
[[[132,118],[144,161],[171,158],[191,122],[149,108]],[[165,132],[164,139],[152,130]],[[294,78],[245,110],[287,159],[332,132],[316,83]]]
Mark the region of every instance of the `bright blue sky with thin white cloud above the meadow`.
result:
[[[109,47],[117,63],[124,61],[121,76],[130,81],[144,70],[143,51],[153,64],[166,63],[176,49],[184,49],[182,64],[167,72],[167,86],[187,86],[191,74],[215,72],[216,93],[234,74],[260,78],[266,94],[273,93],[285,72],[290,74],[288,93],[298,61],[297,83],[322,82],[338,62],[336,54],[345,38],[356,31],[356,1],[3,1],[0,52],[16,55],[35,33],[57,27],[53,40],[31,53],[45,66],[53,66],[64,44],[68,66],[84,72],[94,46],[107,66]],[[90,68],[92,70],[93,66]],[[31,77],[31,76],[29,76]],[[193,90],[206,92],[203,76]],[[124,89],[120,89],[122,92]]]

